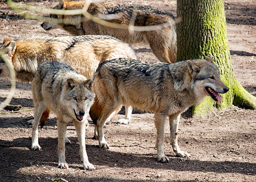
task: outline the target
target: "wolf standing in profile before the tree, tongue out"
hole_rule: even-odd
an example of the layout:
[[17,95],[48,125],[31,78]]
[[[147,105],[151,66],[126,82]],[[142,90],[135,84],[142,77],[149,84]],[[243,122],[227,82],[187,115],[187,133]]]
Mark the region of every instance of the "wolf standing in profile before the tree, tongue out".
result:
[[190,154],[178,146],[180,114],[189,106],[199,104],[205,96],[221,103],[219,93],[229,90],[211,57],[173,64],[126,58],[108,60],[99,65],[93,83],[98,102],[94,102],[89,114],[97,125],[99,147],[109,148],[103,132],[106,118],[122,104],[127,104],[154,113],[159,162],[169,162],[163,149],[167,116],[173,151],[178,157],[189,157]]

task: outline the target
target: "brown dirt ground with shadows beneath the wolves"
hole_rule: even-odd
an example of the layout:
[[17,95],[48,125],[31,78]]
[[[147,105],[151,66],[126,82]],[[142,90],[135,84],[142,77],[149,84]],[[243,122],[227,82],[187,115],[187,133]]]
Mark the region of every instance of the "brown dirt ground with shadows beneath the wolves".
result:
[[[176,16],[175,0],[115,0],[125,4],[154,5]],[[16,0],[16,2],[18,2]],[[53,7],[57,0],[24,0],[24,4]],[[239,82],[256,96],[256,2],[255,0],[224,0],[227,31],[234,73]],[[25,12],[25,10],[24,10]],[[68,35],[63,30],[45,31],[42,22],[26,20],[0,0],[0,40],[31,35]],[[2,44],[2,42],[1,42]],[[141,60],[158,62],[148,45],[133,45]],[[0,112],[0,181],[46,181],[63,178],[77,181],[176,181],[176,182],[253,182],[256,181],[256,111],[232,107],[213,111],[205,119],[195,120],[184,113],[179,126],[178,142],[190,158],[174,156],[170,145],[169,124],[166,124],[165,154],[168,164],[156,161],[156,129],[153,114],[134,112],[128,125],[117,124],[124,117],[120,112],[104,129],[109,150],[99,149],[93,140],[93,124],[86,133],[87,154],[94,171],[82,169],[79,144],[74,126],[70,124],[66,145],[69,169],[57,166],[56,117],[51,114],[46,126],[39,129],[41,151],[32,151],[32,127],[26,121],[33,116],[31,84],[16,82],[11,104],[21,104],[18,113]],[[10,80],[0,78],[0,101],[10,90]]]

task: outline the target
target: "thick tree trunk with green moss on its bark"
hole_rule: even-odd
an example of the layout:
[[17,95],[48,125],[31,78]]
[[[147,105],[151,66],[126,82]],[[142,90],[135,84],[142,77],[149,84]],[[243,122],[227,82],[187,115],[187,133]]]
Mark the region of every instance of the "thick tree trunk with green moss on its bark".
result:
[[206,97],[192,109],[192,115],[203,117],[213,106],[226,109],[232,104],[256,109],[256,98],[237,81],[230,61],[223,0],[177,0],[177,61],[212,56],[221,80],[230,90],[221,104]]

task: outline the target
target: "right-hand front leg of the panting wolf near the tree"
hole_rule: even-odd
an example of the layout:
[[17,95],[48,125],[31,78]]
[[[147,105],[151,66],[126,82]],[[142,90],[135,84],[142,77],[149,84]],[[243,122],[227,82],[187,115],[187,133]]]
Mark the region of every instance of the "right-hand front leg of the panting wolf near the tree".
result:
[[180,122],[180,113],[169,116],[170,131],[171,131],[171,145],[173,151],[178,157],[190,157],[191,155],[187,152],[181,151],[178,146],[178,125]]

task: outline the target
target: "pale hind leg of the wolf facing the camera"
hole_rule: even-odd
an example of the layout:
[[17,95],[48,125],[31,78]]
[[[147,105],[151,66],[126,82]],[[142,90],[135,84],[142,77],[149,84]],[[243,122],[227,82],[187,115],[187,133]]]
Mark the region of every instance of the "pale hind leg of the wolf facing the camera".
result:
[[34,102],[34,121],[33,121],[33,126],[32,126],[32,145],[31,149],[36,150],[39,149],[41,150],[41,147],[39,146],[38,143],[38,124],[39,120],[43,114],[43,112],[46,110],[45,104],[43,101],[39,102]]

